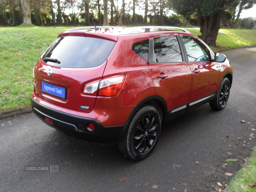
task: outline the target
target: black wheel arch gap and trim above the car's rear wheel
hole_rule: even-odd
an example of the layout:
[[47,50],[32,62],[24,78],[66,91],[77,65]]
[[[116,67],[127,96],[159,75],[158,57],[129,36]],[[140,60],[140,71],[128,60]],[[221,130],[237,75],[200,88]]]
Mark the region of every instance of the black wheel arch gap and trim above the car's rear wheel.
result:
[[161,122],[165,122],[167,119],[167,105],[165,100],[161,97],[161,96],[148,96],[145,99],[143,99],[142,101],[140,101],[135,107],[134,109],[131,111],[130,115],[128,116],[125,125],[122,129],[122,132],[119,136],[118,141],[122,140],[122,138],[124,137],[125,131],[127,130],[127,127],[129,125],[129,122],[131,122],[132,117],[134,116],[134,114],[143,106],[145,105],[151,105],[154,108],[157,109],[157,111],[160,114],[160,119]]

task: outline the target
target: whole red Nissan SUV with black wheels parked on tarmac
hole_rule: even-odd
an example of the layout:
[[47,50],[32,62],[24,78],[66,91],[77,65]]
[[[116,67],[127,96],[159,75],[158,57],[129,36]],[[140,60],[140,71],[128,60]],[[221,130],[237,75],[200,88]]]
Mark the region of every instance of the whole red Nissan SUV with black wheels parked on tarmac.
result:
[[227,105],[226,56],[186,29],[77,27],[61,32],[34,67],[33,112],[47,125],[148,157],[161,123],[209,102]]

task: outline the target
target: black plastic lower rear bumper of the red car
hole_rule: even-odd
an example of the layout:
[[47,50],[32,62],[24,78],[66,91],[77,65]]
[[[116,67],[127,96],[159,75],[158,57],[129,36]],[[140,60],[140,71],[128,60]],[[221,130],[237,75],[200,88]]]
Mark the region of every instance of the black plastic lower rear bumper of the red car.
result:
[[[30,99],[32,111],[39,119],[52,128],[62,131],[72,137],[95,143],[115,143],[118,141],[122,132],[123,125],[104,127],[95,119],[57,111],[42,105],[32,97]],[[52,123],[44,120],[44,117],[51,119]],[[88,127],[89,124],[94,125],[94,130],[91,130]]]

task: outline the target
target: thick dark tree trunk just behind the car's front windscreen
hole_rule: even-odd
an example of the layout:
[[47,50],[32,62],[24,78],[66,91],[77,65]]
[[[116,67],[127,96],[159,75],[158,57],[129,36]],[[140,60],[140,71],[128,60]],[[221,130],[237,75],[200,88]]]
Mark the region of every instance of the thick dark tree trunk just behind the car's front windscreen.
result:
[[221,14],[221,12],[218,12],[213,16],[198,16],[200,32],[202,34],[198,37],[212,47],[216,46],[218,31],[221,28]]

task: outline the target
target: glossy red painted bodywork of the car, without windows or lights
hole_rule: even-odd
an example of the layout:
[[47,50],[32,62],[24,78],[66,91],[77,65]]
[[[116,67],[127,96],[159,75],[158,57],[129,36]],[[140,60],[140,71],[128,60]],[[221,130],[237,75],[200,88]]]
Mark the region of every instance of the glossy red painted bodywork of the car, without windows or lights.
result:
[[[224,75],[232,71],[228,60],[221,64],[215,62],[148,63],[131,49],[135,42],[148,39],[149,35],[150,37],[178,35],[177,32],[158,31],[117,36],[78,31],[62,32],[58,37],[75,34],[116,41],[116,45],[108,59],[100,66],[93,68],[52,67],[40,58],[34,68],[36,86],[32,98],[57,111],[96,119],[103,126],[124,125],[134,107],[148,96],[161,96],[166,102],[167,111],[170,111],[215,93]],[[183,32],[179,32],[179,35],[196,38]],[[210,52],[213,58],[214,53]],[[51,76],[47,75],[49,68],[53,69]],[[200,70],[200,72],[192,73],[193,70]],[[125,75],[125,82],[117,96],[89,96],[82,93],[85,84],[119,74]],[[166,74],[168,76],[165,78],[157,78],[159,75]],[[41,81],[65,87],[66,99],[41,92]],[[80,109],[80,106],[88,106],[89,109]]]

